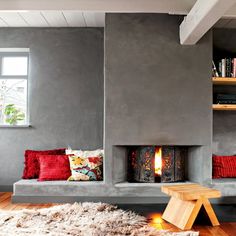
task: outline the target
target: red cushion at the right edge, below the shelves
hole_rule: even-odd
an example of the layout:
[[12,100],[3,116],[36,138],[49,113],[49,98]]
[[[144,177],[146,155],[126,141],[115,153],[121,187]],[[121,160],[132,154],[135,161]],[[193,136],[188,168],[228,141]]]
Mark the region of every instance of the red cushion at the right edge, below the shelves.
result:
[[213,156],[213,179],[236,177],[236,156]]

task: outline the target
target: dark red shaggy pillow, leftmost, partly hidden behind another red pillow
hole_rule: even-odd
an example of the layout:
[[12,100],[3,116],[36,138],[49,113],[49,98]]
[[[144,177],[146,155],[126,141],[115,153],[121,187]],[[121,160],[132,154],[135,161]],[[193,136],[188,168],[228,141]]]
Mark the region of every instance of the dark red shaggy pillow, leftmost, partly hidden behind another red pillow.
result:
[[48,154],[48,155],[63,155],[65,154],[65,148],[46,150],[46,151],[25,151],[25,168],[23,172],[23,179],[37,179],[39,177],[39,162],[38,154]]

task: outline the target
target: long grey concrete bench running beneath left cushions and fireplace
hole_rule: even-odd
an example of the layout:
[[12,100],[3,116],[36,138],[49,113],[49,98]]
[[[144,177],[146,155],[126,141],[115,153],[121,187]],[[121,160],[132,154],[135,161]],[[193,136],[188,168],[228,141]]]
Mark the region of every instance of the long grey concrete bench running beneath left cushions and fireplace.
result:
[[108,203],[165,203],[161,184],[105,183],[105,181],[20,180],[14,183],[13,202],[47,203],[103,201]]

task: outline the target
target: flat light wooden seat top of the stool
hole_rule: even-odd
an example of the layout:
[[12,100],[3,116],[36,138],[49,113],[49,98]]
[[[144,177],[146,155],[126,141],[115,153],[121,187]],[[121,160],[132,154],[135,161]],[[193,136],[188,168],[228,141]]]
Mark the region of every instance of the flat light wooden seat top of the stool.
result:
[[197,200],[201,197],[219,198],[221,196],[220,191],[199,184],[162,186],[161,191],[182,200]]

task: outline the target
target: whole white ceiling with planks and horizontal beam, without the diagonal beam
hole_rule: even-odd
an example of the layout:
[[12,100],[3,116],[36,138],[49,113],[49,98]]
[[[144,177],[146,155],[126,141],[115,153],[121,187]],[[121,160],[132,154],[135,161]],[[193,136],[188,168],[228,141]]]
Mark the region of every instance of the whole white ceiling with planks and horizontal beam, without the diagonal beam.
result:
[[[187,15],[195,2],[196,0],[0,0],[0,27],[104,27],[105,12]],[[215,27],[236,28],[236,4]]]

